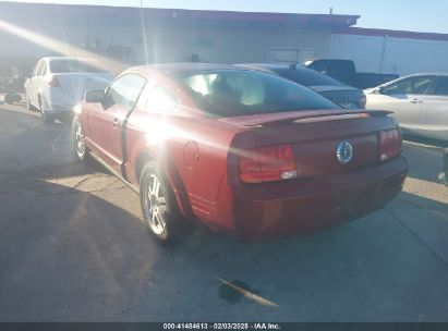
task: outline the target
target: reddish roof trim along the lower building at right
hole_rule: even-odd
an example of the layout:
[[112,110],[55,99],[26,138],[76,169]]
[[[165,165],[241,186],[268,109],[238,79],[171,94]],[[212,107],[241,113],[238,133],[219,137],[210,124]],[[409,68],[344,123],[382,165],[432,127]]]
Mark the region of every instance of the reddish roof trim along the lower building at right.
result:
[[341,35],[375,36],[375,37],[388,36],[388,37],[393,37],[393,38],[448,41],[448,34],[415,33],[415,32],[397,30],[397,29],[347,27],[347,28],[338,29],[335,33],[341,34]]

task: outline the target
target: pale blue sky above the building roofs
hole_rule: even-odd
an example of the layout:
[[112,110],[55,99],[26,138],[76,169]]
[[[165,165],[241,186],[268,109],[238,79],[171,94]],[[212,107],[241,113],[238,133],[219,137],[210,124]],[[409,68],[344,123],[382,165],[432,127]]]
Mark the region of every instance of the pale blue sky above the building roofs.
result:
[[[448,34],[447,0],[14,0],[35,3],[104,4],[196,10],[230,10],[361,15],[360,27]],[[1,1],[0,1],[1,2]]]

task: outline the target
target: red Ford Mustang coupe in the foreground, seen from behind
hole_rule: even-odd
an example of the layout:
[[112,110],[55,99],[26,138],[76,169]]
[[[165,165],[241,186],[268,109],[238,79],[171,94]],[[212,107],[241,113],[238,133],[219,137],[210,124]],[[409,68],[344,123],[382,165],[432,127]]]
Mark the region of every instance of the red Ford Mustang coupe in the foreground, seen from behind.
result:
[[161,242],[189,219],[243,241],[329,226],[385,206],[408,171],[388,112],[232,65],[132,68],[76,113],[77,158],[140,192]]

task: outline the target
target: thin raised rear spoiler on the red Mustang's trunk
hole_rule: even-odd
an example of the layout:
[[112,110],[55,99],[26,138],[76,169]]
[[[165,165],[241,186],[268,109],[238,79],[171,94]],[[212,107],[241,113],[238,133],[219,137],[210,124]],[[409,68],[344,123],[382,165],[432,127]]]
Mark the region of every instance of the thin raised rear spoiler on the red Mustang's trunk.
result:
[[317,118],[328,118],[328,117],[339,117],[339,115],[359,115],[360,118],[384,118],[389,114],[392,114],[392,111],[387,110],[347,110],[347,111],[322,111],[322,112],[303,112],[294,113],[291,117],[286,117],[278,120],[271,120],[267,122],[261,121],[259,123],[251,123],[247,126],[277,126],[281,124],[293,123],[299,120],[305,119],[317,119]]

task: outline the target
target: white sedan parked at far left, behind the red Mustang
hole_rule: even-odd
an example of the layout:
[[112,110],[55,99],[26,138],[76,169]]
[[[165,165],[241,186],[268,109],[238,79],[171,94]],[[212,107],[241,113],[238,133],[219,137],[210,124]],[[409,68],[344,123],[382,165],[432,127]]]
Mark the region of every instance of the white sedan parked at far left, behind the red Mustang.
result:
[[37,109],[44,123],[70,118],[87,90],[105,88],[113,74],[93,59],[51,57],[40,59],[25,82],[27,109]]

